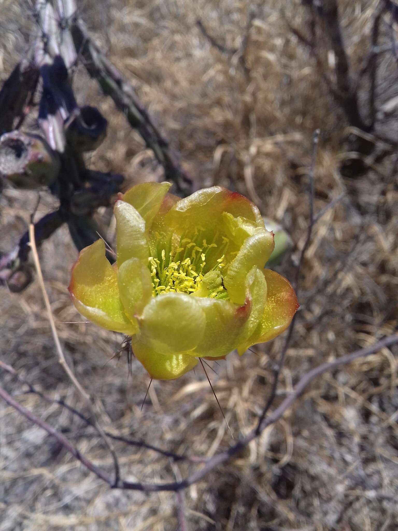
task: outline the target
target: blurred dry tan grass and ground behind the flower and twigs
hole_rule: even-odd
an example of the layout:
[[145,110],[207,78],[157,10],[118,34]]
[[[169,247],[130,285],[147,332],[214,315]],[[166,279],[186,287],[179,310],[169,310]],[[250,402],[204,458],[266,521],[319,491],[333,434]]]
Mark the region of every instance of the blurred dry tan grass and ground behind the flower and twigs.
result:
[[[377,2],[341,0],[342,29],[354,71],[369,49]],[[255,18],[247,33],[248,20]],[[395,154],[363,175],[343,177],[347,124],[319,70],[284,16],[308,32],[309,15],[295,0],[103,0],[85,2],[82,16],[107,56],[127,76],[197,187],[221,184],[254,200],[280,221],[295,248],[278,268],[293,278],[308,225],[307,172],[314,130],[321,129],[315,209],[345,192],[314,227],[300,278],[302,305],[278,387],[278,400],[311,367],[373,344],[398,324],[398,188]],[[226,48],[214,48],[196,25]],[[382,42],[390,38],[383,26]],[[26,49],[34,22],[29,5],[0,0],[0,76],[6,79]],[[319,54],[333,77],[326,39]],[[245,64],[245,68],[243,67]],[[397,95],[392,54],[379,59],[377,107]],[[80,68],[80,102],[98,105],[109,119],[108,138],[92,167],[121,172],[129,182],[161,178],[161,168],[139,136]],[[367,97],[367,85],[361,102]],[[365,108],[365,107],[363,107]],[[396,136],[397,116],[379,120]],[[41,194],[38,215],[56,207]],[[1,248],[10,250],[27,228],[36,192],[5,189],[0,198]],[[109,211],[100,216],[113,234]],[[173,451],[212,456],[231,439],[204,374],[153,382],[140,411],[148,376],[133,361],[109,361],[122,336],[81,321],[67,294],[76,260],[67,230],[41,247],[40,260],[68,362],[94,398],[103,426]],[[48,396],[83,407],[56,362],[38,282],[22,294],[3,288],[0,347],[6,363]],[[215,391],[236,437],[256,424],[272,382],[283,338],[232,354]],[[9,375],[3,384],[21,404],[61,430],[94,463],[111,470],[98,436]],[[189,529],[222,531],[393,531],[398,527],[397,359],[385,349],[324,375],[283,419],[236,459],[185,491]],[[169,531],[177,528],[175,496],[111,491],[36,426],[0,404],[0,530]],[[128,479],[173,481],[171,466],[153,452],[116,444]]]

